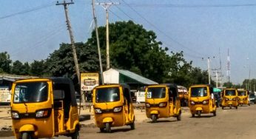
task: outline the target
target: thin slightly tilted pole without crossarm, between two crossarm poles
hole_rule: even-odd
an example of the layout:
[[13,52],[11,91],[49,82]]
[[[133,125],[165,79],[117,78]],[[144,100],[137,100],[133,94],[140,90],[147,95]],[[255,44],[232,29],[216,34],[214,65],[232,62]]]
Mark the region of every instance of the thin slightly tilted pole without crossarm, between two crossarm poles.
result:
[[95,25],[95,32],[96,32],[96,38],[97,38],[97,47],[98,47],[98,61],[100,63],[100,69],[101,69],[101,83],[104,84],[104,77],[103,77],[103,69],[101,64],[101,48],[100,48],[100,41],[98,39],[98,24],[97,24],[97,18],[95,16],[95,1],[92,0],[92,14],[93,14],[93,20]]

